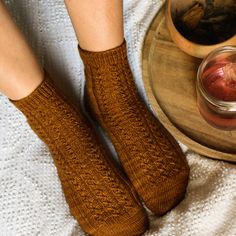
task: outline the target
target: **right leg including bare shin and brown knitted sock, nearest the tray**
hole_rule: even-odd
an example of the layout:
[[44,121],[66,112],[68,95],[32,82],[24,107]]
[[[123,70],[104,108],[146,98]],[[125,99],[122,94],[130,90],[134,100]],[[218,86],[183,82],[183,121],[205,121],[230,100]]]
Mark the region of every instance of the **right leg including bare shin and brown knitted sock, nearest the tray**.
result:
[[91,110],[137,192],[162,215],[184,197],[189,168],[176,140],[138,95],[123,40],[122,0],[65,3],[85,64]]

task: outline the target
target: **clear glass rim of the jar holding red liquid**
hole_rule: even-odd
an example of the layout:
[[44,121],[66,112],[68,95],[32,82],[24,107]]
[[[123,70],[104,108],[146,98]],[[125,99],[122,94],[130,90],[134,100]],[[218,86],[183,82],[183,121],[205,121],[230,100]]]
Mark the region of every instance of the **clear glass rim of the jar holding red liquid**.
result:
[[206,89],[204,88],[201,80],[201,72],[204,67],[207,65],[208,61],[211,60],[215,55],[221,52],[232,52],[234,51],[236,54],[236,47],[234,46],[223,46],[216,48],[212,52],[210,52],[201,62],[198,71],[197,71],[197,87],[201,95],[214,107],[224,112],[236,112],[236,101],[223,101],[211,96]]

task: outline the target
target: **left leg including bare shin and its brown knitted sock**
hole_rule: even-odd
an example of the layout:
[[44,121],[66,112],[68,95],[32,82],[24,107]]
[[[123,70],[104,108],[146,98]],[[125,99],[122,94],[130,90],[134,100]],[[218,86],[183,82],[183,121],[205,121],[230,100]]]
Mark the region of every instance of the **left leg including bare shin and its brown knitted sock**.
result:
[[0,23],[0,91],[48,145],[71,213],[89,235],[141,235],[146,212],[92,125],[43,73],[2,3]]

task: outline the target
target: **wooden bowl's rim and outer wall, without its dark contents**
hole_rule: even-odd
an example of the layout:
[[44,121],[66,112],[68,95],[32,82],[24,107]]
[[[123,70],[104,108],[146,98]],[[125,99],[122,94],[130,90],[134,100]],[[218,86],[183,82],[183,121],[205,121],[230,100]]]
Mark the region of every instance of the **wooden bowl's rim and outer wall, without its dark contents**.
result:
[[[205,4],[206,0],[198,0],[198,2]],[[173,39],[173,41],[177,44],[177,46],[186,52],[187,54],[198,57],[198,58],[204,58],[207,54],[209,54],[212,50],[221,47],[221,46],[229,46],[229,45],[236,45],[236,35],[233,37],[227,39],[226,41],[218,44],[213,45],[201,45],[194,42],[191,42],[190,40],[186,39],[183,35],[179,33],[179,31],[176,29],[174,22],[173,22],[173,16],[174,14],[183,11],[184,9],[188,9],[191,7],[194,3],[196,3],[195,0],[167,0],[166,5],[166,24],[167,28],[170,32],[170,35]],[[230,4],[235,5],[235,0],[215,0],[215,4],[218,6],[229,6]],[[232,22],[232,24],[235,24],[235,22]]]

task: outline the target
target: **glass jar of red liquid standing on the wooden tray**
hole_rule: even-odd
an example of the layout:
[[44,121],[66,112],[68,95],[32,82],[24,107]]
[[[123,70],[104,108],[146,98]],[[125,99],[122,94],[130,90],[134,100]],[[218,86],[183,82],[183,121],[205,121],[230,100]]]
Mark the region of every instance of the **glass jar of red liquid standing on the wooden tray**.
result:
[[212,126],[236,129],[236,47],[212,51],[197,73],[197,105]]

